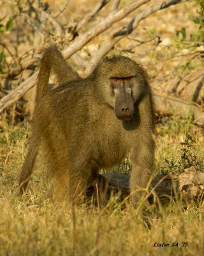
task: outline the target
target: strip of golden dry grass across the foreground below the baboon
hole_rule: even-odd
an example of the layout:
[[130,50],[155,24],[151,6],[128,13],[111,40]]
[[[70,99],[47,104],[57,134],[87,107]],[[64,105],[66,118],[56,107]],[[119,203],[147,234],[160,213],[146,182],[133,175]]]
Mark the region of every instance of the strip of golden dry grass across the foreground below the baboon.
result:
[[[83,205],[75,216],[48,202],[38,208],[3,198],[0,207],[1,255],[203,255],[201,204],[186,211],[177,204],[161,209],[159,218],[150,218],[150,229],[119,207],[98,212]],[[170,245],[154,247],[158,242]]]

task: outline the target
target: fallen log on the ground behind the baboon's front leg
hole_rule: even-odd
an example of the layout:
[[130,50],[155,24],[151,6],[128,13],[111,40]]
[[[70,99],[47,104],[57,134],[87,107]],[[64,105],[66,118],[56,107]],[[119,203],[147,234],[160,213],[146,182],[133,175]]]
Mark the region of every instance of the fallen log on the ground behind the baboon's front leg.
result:
[[[196,171],[192,166],[184,170],[180,175],[160,175],[152,180],[149,188],[149,201],[154,197],[161,202],[167,202],[175,196],[182,196],[186,202],[201,199],[204,193],[204,173]],[[121,200],[126,198],[129,191],[129,174],[127,173],[103,173],[87,188],[87,196],[96,193],[96,184],[100,190],[105,190],[107,195],[120,193]]]

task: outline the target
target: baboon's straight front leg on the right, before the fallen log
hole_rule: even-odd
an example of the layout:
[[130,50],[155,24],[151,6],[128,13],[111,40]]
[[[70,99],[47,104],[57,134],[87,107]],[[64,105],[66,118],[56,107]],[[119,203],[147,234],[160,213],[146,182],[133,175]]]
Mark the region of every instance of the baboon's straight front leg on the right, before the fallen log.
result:
[[133,169],[129,181],[133,206],[138,206],[154,168],[154,140],[152,137],[140,140],[131,150]]

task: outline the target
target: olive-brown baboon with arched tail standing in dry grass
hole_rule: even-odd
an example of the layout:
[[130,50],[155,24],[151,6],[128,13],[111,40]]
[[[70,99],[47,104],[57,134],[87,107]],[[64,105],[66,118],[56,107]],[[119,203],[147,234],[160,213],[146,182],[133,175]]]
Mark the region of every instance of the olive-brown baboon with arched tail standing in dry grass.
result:
[[[36,108],[25,163],[20,173],[24,193],[43,146],[56,200],[73,202],[99,169],[133,165],[130,189],[145,188],[154,164],[154,102],[149,76],[124,56],[107,56],[85,79],[64,60],[57,46],[43,50]],[[59,86],[47,93],[50,72]],[[133,193],[133,205],[141,193]]]

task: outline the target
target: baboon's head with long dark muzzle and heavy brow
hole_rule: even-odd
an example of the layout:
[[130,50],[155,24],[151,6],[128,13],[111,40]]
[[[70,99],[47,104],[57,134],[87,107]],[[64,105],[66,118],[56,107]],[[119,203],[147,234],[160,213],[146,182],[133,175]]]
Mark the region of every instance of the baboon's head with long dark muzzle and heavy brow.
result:
[[119,120],[131,120],[136,102],[147,92],[149,77],[141,65],[124,56],[108,56],[94,70],[96,92]]

